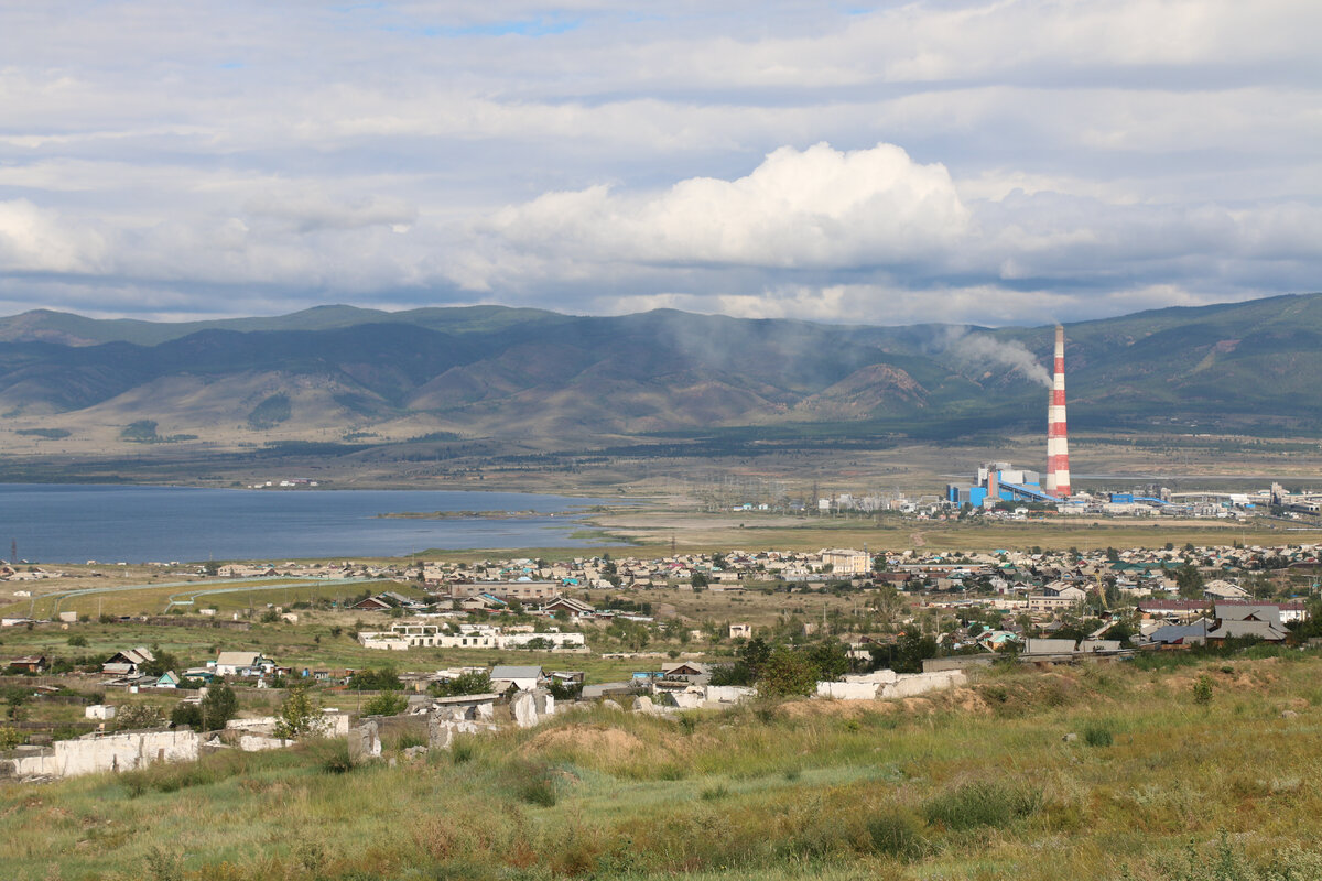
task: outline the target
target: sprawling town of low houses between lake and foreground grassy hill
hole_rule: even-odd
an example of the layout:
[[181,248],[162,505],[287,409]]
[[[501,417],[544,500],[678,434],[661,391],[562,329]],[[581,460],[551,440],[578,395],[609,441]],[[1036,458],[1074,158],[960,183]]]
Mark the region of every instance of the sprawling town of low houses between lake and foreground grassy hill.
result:
[[[966,686],[999,662],[1300,649],[1314,642],[1322,580],[1317,544],[730,549],[209,571],[221,577],[196,582],[210,588],[198,604],[171,600],[167,614],[91,616],[77,606],[106,594],[73,592],[59,602],[74,608],[49,618],[0,621],[11,650],[0,740],[13,750],[4,765],[12,777],[122,770],[208,745],[288,746],[309,719],[365,737],[356,754],[379,756],[382,729],[397,744],[416,729],[415,745],[436,746],[479,721],[481,730],[501,719],[531,725],[557,707],[600,701],[668,715],[759,693],[887,700]],[[301,600],[279,601],[300,586]],[[135,596],[119,590],[119,602]],[[271,598],[243,605],[258,594]],[[15,596],[37,608],[32,590]],[[202,596],[241,602],[221,610],[201,606]],[[185,634],[205,635],[212,650],[197,654]],[[290,649],[297,637],[311,637],[301,651]],[[34,650],[12,654],[19,646]],[[796,671],[788,691],[767,684],[772,659]],[[217,688],[229,695],[226,712],[201,716]],[[305,719],[282,728],[291,700]],[[168,748],[148,748],[161,738]]]

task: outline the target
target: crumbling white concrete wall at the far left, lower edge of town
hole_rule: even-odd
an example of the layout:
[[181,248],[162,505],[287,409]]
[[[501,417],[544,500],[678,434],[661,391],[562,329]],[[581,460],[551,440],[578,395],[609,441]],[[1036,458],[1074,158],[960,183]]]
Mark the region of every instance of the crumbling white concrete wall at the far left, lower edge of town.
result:
[[152,762],[197,758],[200,737],[192,730],[124,732],[57,741],[34,752],[19,752],[0,762],[13,777],[77,777],[127,771]]

